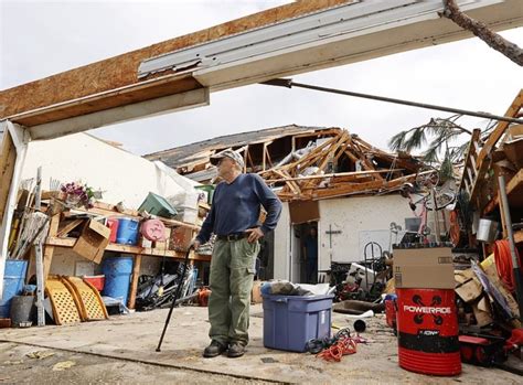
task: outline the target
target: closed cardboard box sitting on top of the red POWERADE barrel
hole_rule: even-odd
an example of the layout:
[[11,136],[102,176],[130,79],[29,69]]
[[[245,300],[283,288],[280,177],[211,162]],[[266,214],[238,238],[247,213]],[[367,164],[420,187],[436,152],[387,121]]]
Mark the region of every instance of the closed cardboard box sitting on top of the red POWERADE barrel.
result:
[[453,289],[453,263],[450,247],[394,250],[396,288]]

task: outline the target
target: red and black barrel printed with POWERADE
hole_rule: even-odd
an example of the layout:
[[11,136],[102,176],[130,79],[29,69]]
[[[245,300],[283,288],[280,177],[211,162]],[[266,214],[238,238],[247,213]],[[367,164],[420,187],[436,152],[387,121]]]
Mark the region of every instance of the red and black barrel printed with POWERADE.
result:
[[396,289],[399,366],[451,376],[461,373],[452,289]]

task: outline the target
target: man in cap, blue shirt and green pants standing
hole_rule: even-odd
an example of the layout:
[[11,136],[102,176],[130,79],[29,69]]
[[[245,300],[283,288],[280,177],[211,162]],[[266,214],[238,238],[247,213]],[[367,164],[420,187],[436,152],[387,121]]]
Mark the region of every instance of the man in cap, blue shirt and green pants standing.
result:
[[[239,357],[248,343],[250,290],[255,274],[258,239],[274,229],[281,203],[257,174],[244,174],[242,157],[225,150],[211,158],[223,179],[213,195],[213,204],[194,248],[216,235],[211,259],[209,321],[211,344],[204,357],[214,357],[228,347],[230,357]],[[267,212],[259,224],[260,205]]]

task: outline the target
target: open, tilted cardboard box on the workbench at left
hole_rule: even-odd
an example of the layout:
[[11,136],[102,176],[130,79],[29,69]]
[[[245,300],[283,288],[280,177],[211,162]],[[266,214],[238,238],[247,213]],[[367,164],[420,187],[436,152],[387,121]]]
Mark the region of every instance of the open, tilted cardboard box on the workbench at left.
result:
[[90,220],[83,228],[81,236],[73,246],[73,252],[82,257],[102,261],[105,248],[109,244],[110,228],[99,222]]

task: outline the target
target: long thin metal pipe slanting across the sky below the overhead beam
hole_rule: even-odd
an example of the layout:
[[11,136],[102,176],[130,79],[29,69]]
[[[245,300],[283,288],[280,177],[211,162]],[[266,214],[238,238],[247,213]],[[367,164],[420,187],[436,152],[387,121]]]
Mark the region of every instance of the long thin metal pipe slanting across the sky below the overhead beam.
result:
[[370,94],[353,93],[353,92],[350,92],[350,90],[343,90],[343,89],[337,89],[337,88],[320,87],[320,86],[314,86],[314,85],[310,85],[310,84],[295,83],[295,82],[292,82],[292,79],[286,79],[286,78],[276,78],[276,79],[263,82],[262,84],[269,85],[269,86],[287,87],[287,88],[300,87],[300,88],[307,88],[307,89],[313,89],[313,90],[321,90],[321,92],[331,93],[331,94],[361,97],[361,98],[364,98],[364,99],[373,99],[373,100],[380,100],[380,101],[386,101],[386,103],[394,103],[394,104],[404,105],[404,106],[412,106],[412,107],[419,107],[419,108],[427,108],[427,109],[436,109],[436,110],[440,110],[440,111],[459,114],[459,115],[476,116],[478,118],[487,118],[487,119],[493,119],[493,120],[499,120],[499,121],[516,122],[516,124],[520,124],[520,125],[523,124],[523,119],[511,118],[511,117],[508,117],[508,116],[492,115],[492,114],[489,114],[489,113],[476,113],[476,111],[470,111],[470,110],[460,109],[460,108],[429,105],[429,104],[426,104],[426,103],[417,103],[417,101],[412,101],[412,100],[396,99],[396,98],[385,97],[385,96],[376,96],[376,95],[370,95]]

